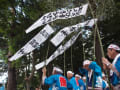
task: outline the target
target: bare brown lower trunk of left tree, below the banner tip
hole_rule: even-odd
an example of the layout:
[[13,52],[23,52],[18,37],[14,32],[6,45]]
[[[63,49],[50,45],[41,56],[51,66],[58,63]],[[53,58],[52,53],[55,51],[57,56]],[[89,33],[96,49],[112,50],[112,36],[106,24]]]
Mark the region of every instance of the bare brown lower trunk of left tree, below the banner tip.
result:
[[16,68],[8,61],[8,87],[7,90],[17,90]]

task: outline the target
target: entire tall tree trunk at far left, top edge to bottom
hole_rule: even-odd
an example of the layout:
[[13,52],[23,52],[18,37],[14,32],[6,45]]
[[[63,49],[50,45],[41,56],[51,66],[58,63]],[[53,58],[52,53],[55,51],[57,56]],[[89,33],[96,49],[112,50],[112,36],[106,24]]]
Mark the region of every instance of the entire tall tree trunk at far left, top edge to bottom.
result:
[[[13,14],[14,19],[12,19],[12,24],[10,26],[11,30],[13,31],[16,27],[16,10],[14,7],[14,3],[12,2],[12,0],[8,0],[9,3],[11,4],[11,13]],[[12,46],[12,49],[14,50],[14,46],[12,45],[12,43],[16,43],[16,42],[11,42],[15,37],[14,36],[14,32],[11,32],[10,34],[8,34],[8,36],[10,35],[10,39],[8,41],[8,46]],[[11,42],[11,43],[10,43]],[[11,49],[9,48],[9,53],[8,53],[8,59],[11,57],[11,54],[13,52],[11,51]],[[17,90],[17,81],[16,81],[16,68],[14,65],[12,65],[12,62],[9,62],[8,60],[8,87],[7,90]]]

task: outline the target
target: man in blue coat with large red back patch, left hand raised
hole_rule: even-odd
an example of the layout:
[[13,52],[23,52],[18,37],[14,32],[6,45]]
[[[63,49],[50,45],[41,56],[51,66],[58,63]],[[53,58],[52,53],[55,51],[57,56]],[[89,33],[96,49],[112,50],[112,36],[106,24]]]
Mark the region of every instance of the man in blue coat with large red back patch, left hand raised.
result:
[[49,90],[68,90],[68,88],[72,88],[71,84],[67,81],[67,79],[62,75],[63,71],[54,67],[52,75],[50,77],[46,77],[46,68],[42,69],[42,84],[50,85]]

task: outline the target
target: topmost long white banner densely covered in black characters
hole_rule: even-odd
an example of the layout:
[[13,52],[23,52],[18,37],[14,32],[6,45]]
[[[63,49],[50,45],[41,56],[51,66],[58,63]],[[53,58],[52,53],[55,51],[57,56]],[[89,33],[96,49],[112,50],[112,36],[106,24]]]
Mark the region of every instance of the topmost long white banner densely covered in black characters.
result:
[[33,25],[31,25],[27,30],[26,33],[31,32],[32,30],[50,23],[52,21],[55,21],[57,19],[68,19],[77,17],[80,15],[85,15],[87,12],[88,4],[85,4],[83,6],[73,8],[73,9],[64,9],[64,10],[58,10],[55,12],[50,12],[45,15],[43,15],[40,19],[38,19]]

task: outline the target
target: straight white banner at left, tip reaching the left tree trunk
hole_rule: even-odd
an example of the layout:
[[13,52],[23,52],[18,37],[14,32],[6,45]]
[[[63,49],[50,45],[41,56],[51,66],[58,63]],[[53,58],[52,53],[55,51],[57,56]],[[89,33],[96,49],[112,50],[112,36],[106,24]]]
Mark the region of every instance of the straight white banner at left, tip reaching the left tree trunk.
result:
[[25,46],[23,46],[17,53],[12,56],[9,61],[16,60],[25,54],[30,53],[36,49],[39,45],[45,42],[48,37],[54,33],[54,30],[50,25],[46,25],[36,36],[34,36]]

